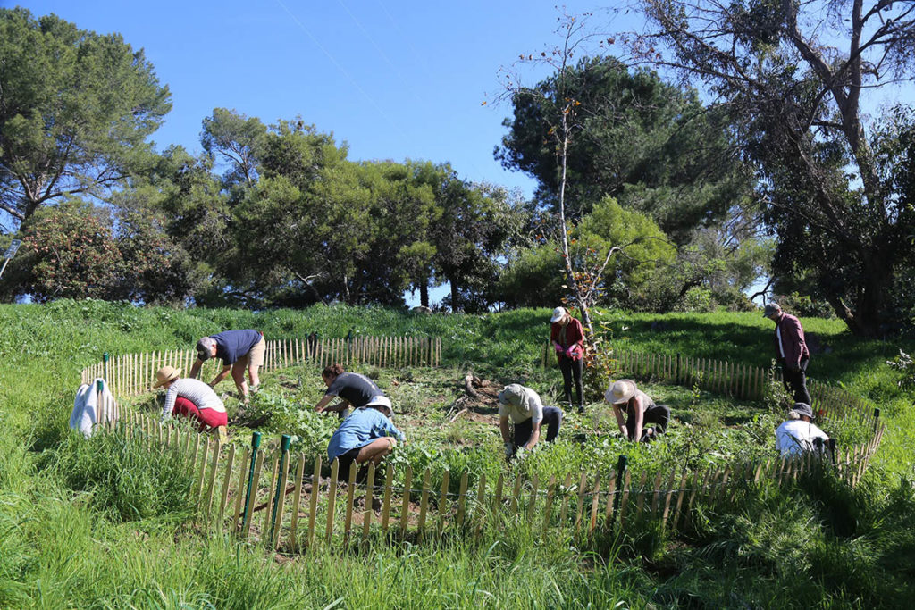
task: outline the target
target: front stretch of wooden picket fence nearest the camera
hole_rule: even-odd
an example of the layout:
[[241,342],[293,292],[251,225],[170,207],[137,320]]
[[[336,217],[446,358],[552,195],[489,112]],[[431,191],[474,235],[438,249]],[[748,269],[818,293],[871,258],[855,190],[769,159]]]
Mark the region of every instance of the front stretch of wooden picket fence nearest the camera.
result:
[[[645,521],[684,529],[691,526],[699,504],[727,505],[765,481],[781,484],[816,468],[832,468],[856,485],[883,434],[881,426],[869,443],[840,451],[832,460],[808,453],[698,472],[672,467],[653,476],[623,468],[569,473],[562,481],[552,476],[545,485],[536,476],[526,480],[501,474],[495,481],[479,476],[471,482],[466,472],[445,472],[433,487],[429,469],[414,473],[408,466],[395,483],[391,465],[378,471],[370,466],[365,483],[357,485],[357,467],[344,475],[337,460],[322,478],[320,455],[292,455],[275,446],[220,446],[187,426],[161,423],[131,410],[103,427],[139,439],[149,451],[170,449],[184,455],[194,476],[191,496],[201,530],[231,532],[284,551],[302,551],[340,537],[422,541],[455,531],[479,535],[485,526],[500,527],[505,519],[526,519],[542,536],[556,529],[594,535]],[[459,477],[457,493],[449,491],[452,476]],[[373,498],[379,508],[373,507]]]

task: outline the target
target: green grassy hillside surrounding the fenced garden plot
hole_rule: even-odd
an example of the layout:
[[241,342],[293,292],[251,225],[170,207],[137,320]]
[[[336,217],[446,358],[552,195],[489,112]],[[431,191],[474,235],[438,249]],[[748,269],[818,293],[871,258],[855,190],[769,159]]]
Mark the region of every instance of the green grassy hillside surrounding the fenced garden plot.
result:
[[[129,443],[87,444],[66,430],[80,369],[106,351],[188,348],[242,327],[268,337],[436,335],[453,372],[472,367],[494,380],[549,386],[558,372],[538,369],[548,318],[546,310],[417,316],[323,306],[251,313],[0,305],[0,607],[891,607],[915,595],[913,396],[884,364],[913,346],[858,342],[835,321],[803,320],[828,349],[814,355],[812,376],[866,395],[892,428],[864,484],[763,486],[734,511],[700,507],[704,525],[675,536],[583,541],[557,532],[539,542],[539,532],[506,524],[479,541],[440,547],[269,556],[188,527],[187,508],[175,500],[187,485],[179,467],[139,459]],[[770,359],[771,323],[759,315],[612,312],[604,321],[613,340],[634,349]],[[457,440],[448,431],[437,438]],[[115,491],[134,499],[119,505],[109,499]],[[155,514],[130,508],[153,501]]]

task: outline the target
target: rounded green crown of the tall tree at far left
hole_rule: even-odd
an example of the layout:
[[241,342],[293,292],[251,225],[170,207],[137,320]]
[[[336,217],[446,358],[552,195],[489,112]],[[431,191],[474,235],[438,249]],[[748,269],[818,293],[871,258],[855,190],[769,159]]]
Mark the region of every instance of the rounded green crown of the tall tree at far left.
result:
[[120,35],[0,9],[0,67],[0,209],[15,222],[151,164],[170,95]]

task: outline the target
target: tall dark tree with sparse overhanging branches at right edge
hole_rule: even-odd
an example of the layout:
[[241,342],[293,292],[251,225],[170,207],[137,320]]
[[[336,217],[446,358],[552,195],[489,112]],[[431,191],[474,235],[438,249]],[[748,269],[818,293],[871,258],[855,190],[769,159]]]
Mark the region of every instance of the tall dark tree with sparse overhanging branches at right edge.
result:
[[899,190],[882,175],[862,100],[913,80],[915,5],[854,0],[641,0],[655,27],[642,58],[702,81],[735,118],[756,164],[777,273],[812,272],[856,335],[892,323],[911,244]]

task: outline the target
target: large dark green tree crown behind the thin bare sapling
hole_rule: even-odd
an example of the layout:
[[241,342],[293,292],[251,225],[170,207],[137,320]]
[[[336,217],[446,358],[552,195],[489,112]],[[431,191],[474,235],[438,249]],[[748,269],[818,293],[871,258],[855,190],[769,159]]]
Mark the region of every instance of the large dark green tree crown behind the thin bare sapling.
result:
[[630,70],[618,59],[579,59],[575,65],[511,96],[508,134],[496,149],[503,166],[538,181],[551,208],[562,179],[555,117],[568,100],[574,118],[565,165],[571,218],[605,196],[648,213],[678,241],[720,218],[748,187],[727,133],[727,115],[709,111],[695,91]]

